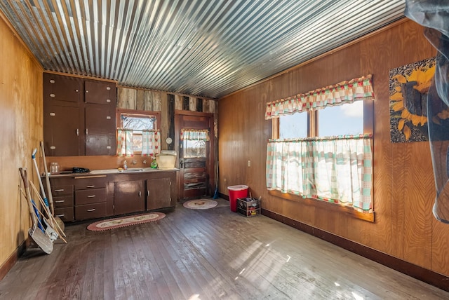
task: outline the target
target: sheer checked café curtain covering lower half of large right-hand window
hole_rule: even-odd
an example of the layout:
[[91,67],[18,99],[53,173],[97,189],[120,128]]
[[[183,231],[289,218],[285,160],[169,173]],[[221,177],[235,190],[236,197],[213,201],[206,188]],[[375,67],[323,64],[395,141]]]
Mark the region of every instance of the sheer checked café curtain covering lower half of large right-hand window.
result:
[[371,135],[269,139],[267,189],[373,212]]

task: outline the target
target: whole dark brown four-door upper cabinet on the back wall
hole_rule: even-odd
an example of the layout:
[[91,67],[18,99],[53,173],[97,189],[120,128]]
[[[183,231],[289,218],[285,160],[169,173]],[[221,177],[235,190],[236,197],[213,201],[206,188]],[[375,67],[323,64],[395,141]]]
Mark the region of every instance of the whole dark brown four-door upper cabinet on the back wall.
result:
[[43,74],[43,141],[48,156],[115,154],[116,85]]

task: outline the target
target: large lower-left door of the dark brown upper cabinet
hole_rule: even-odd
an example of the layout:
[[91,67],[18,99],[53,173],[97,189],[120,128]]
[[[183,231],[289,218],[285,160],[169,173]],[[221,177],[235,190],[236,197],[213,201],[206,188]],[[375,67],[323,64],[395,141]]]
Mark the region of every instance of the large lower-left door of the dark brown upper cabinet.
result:
[[48,156],[79,156],[79,108],[48,105],[43,141]]

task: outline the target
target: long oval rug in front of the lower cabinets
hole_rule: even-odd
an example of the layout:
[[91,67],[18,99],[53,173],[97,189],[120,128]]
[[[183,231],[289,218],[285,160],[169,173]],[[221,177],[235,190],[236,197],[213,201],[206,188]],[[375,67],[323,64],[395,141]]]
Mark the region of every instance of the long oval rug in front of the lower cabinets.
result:
[[163,219],[164,217],[166,217],[166,214],[162,212],[149,212],[146,214],[136,214],[134,216],[126,216],[115,219],[96,221],[95,223],[92,223],[89,226],[87,226],[87,229],[91,231],[103,231],[124,226],[157,221]]

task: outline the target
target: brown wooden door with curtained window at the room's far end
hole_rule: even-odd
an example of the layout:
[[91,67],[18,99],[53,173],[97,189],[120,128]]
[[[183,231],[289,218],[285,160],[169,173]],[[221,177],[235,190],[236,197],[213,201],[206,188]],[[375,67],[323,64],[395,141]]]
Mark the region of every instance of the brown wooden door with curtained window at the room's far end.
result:
[[[176,146],[179,149],[181,200],[211,196],[213,183],[213,114],[182,112],[175,116]],[[207,129],[209,141],[180,139],[182,129]]]

